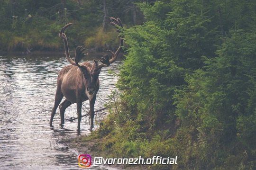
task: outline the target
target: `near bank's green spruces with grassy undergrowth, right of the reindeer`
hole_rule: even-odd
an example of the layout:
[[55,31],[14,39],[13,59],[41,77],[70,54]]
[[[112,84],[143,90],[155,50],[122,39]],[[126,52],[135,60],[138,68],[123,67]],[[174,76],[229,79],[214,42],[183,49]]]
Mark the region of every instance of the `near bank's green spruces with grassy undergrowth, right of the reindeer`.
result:
[[138,6],[146,22],[124,30],[129,48],[117,84],[121,94],[94,133],[102,139],[99,150],[178,156],[175,166],[151,169],[255,169],[254,1]]

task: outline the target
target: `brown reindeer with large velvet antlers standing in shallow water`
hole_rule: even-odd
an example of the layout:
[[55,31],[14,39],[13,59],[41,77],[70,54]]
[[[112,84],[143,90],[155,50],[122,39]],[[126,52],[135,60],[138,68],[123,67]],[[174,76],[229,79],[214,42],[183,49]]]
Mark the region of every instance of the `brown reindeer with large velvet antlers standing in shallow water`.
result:
[[[122,22],[119,18],[110,18],[110,24],[122,28]],[[84,52],[84,48],[82,46],[78,46],[75,50],[74,61],[71,59],[68,49],[68,40],[65,35],[65,29],[71,26],[72,23],[64,26],[60,31],[60,38],[64,41],[64,49],[65,55],[70,63],[65,66],[58,74],[57,78],[57,90],[55,93],[55,103],[52,109],[51,118],[50,118],[50,126],[53,127],[53,118],[56,113],[56,109],[59,106],[60,109],[60,118],[61,118],[61,126],[64,124],[64,112],[67,107],[69,107],[72,103],[77,104],[77,119],[78,125],[77,129],[80,130],[80,122],[82,118],[82,102],[89,99],[90,101],[90,118],[91,118],[91,129],[93,128],[93,119],[94,119],[94,104],[96,100],[96,94],[100,88],[99,74],[101,72],[101,68],[109,66],[111,63],[114,63],[118,55],[123,49],[124,40],[122,36],[119,37],[119,48],[115,53],[110,50],[107,50],[112,56],[108,54],[104,54],[101,57],[101,64],[98,64],[97,60],[93,60],[94,63],[91,64],[89,62],[79,63],[84,56],[86,56]],[[117,32],[121,32],[120,29]],[[62,98],[65,97],[65,100],[60,104]],[[60,104],[60,105],[59,105]]]

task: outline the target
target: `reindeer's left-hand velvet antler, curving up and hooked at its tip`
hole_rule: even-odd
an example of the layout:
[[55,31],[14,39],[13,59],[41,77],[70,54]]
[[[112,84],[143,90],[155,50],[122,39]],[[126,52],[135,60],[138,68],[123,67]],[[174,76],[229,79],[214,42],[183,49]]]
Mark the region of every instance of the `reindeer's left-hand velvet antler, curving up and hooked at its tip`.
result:
[[65,25],[65,26],[61,29],[59,35],[60,35],[60,38],[62,38],[63,41],[64,41],[65,55],[66,55],[66,58],[67,58],[68,62],[71,63],[72,65],[76,65],[76,66],[78,66],[78,67],[81,67],[81,64],[80,64],[79,62],[80,62],[80,60],[82,60],[82,58],[83,58],[84,56],[86,56],[86,54],[85,54],[85,52],[84,52],[85,48],[82,48],[82,46],[76,47],[76,49],[75,49],[74,61],[71,59],[70,54],[69,54],[69,49],[68,49],[67,36],[66,36],[66,34],[65,34],[65,29],[66,29],[67,27],[69,27],[69,26],[72,26],[72,23],[69,23],[69,24]]

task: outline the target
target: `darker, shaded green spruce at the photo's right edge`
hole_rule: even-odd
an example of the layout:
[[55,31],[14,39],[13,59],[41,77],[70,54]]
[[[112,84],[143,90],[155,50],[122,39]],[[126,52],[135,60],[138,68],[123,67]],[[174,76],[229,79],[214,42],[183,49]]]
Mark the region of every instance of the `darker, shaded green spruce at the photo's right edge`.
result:
[[237,169],[239,164],[245,169],[254,167],[256,107],[251,102],[256,87],[255,41],[254,32],[230,31],[216,51],[218,57],[203,58],[206,71],[187,75],[188,85],[176,91],[180,129],[193,125],[193,135],[197,135],[193,142],[204,152],[203,157],[195,158],[204,162],[196,165],[197,169]]

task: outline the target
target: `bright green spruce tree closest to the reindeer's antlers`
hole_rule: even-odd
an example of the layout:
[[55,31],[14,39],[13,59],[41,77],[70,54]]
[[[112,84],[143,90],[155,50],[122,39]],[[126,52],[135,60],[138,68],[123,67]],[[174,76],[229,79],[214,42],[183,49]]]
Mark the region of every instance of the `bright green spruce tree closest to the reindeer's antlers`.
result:
[[[191,8],[184,11],[183,5]],[[124,32],[130,48],[118,87],[130,107],[147,115],[158,112],[154,119],[161,125],[164,117],[174,118],[172,96],[185,83],[184,75],[201,67],[202,55],[214,57],[212,42],[219,42],[216,26],[209,24],[212,16],[201,13],[196,3],[183,5],[180,1],[138,4],[148,20]],[[183,13],[176,15],[176,10]]]

